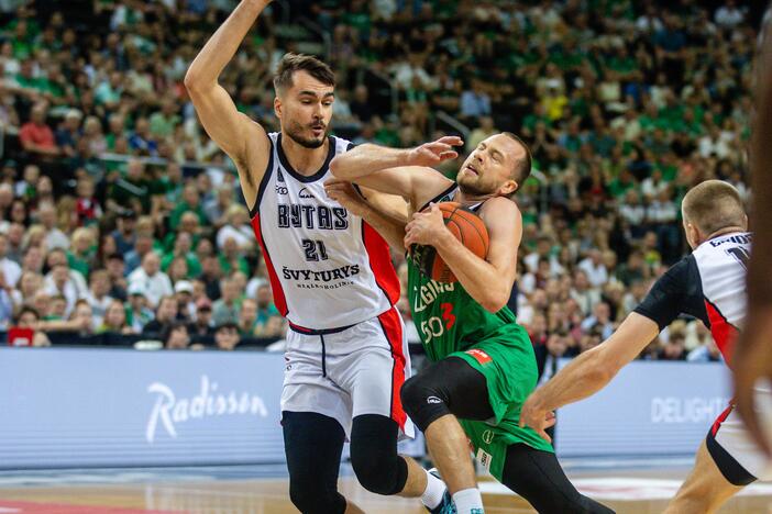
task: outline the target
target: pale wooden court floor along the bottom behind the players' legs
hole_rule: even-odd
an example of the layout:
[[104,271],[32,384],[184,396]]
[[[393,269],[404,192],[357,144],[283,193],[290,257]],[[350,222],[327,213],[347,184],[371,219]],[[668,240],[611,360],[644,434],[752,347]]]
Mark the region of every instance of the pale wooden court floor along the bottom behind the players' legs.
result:
[[[577,488],[618,513],[660,513],[677,489],[681,477],[672,471],[572,474]],[[82,480],[80,481],[82,482]],[[137,513],[249,513],[289,514],[286,479],[261,480],[147,480],[132,483],[57,483],[0,485],[0,514],[137,514]],[[532,513],[528,504],[494,482],[483,481],[486,513]],[[419,514],[417,500],[368,493],[353,478],[341,479],[341,490],[365,512]],[[772,484],[754,484],[732,499],[723,514],[772,513]]]

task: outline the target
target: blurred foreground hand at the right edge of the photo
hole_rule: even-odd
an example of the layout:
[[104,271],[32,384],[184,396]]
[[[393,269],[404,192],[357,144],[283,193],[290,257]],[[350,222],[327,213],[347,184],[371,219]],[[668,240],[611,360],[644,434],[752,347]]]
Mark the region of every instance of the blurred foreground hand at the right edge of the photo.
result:
[[769,435],[764,433],[756,410],[754,389],[759,380],[772,380],[771,337],[772,309],[767,308],[748,319],[731,357],[737,411],[745,421],[748,432],[768,457],[772,457],[772,448]]

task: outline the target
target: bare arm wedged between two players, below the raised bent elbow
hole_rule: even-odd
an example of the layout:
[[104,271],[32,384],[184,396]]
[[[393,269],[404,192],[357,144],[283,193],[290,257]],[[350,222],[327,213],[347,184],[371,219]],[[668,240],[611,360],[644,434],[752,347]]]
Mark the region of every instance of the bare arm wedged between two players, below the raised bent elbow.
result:
[[407,223],[407,204],[405,200],[393,194],[364,190],[364,198],[351,182],[332,179],[324,182],[324,191],[332,200],[340,203],[350,213],[362,217],[391,248],[402,252],[405,224]]

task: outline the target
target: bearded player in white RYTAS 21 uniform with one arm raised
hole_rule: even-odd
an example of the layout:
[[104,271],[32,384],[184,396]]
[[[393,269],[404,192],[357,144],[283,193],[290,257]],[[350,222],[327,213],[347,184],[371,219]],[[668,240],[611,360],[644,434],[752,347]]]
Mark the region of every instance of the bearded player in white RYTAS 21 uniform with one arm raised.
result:
[[334,75],[285,55],[274,78],[282,132],[240,113],[218,77],[271,0],[243,0],[190,65],[185,86],[203,127],[235,163],[276,306],[289,321],[282,425],[289,493],[304,513],[361,512],[338,492],[343,442],[363,487],[450,504],[445,487],[397,454],[412,426],[399,390],[409,376],[399,281],[388,245],[324,192]]

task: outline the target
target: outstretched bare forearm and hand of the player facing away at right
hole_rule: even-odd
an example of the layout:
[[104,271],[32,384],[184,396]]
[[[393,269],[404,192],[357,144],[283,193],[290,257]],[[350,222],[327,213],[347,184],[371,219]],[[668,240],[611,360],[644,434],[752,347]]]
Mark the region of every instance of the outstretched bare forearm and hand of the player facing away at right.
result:
[[554,424],[552,412],[605,388],[659,332],[653,320],[637,312],[630,313],[611,337],[581,354],[528,396],[520,411],[520,426],[528,425],[550,440],[544,429]]

